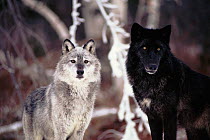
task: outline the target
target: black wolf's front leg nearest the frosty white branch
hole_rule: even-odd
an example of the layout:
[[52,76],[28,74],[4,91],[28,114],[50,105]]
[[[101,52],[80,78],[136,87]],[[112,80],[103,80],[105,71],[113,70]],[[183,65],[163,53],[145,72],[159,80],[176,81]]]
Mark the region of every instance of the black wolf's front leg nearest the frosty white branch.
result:
[[149,125],[152,134],[152,140],[162,140],[163,125],[162,119],[158,116],[148,116]]

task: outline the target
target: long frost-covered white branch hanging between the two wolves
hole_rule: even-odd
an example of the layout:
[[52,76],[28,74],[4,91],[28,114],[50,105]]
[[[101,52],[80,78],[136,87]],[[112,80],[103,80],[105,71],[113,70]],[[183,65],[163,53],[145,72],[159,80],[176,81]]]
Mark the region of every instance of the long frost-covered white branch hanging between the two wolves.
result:
[[[142,112],[142,110],[137,107],[136,112],[131,111],[129,97],[133,96],[133,90],[131,85],[129,84],[125,61],[127,56],[127,49],[129,48],[129,44],[123,44],[119,38],[119,35],[123,37],[128,37],[129,34],[122,28],[120,22],[115,19],[114,13],[107,13],[105,8],[116,8],[113,4],[109,3],[109,0],[96,0],[99,10],[102,13],[102,16],[105,19],[106,25],[103,28],[102,37],[105,43],[107,42],[106,38],[106,29],[109,27],[112,37],[113,44],[111,50],[108,54],[108,58],[110,61],[110,65],[112,68],[112,75],[118,78],[123,78],[124,80],[124,89],[123,89],[123,97],[119,106],[118,117],[120,120],[125,120],[127,123],[125,134],[123,135],[123,140],[139,140],[138,134],[135,129],[135,122],[132,120],[135,117],[141,118],[141,122],[139,123],[139,131],[143,131],[143,125],[145,126],[148,133],[150,133],[148,119],[147,116]],[[108,5],[108,6],[107,6]],[[134,99],[135,100],[135,99]],[[137,105],[137,104],[136,104]]]

